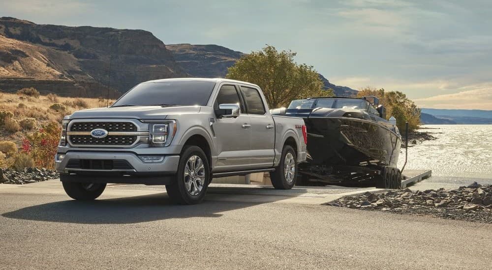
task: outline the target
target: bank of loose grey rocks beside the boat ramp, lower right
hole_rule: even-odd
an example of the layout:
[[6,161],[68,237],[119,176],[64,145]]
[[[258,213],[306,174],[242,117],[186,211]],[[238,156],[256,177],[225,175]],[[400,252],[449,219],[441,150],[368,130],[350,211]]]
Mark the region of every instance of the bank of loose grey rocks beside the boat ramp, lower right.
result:
[[477,182],[459,189],[390,190],[343,197],[330,206],[492,223],[492,185]]

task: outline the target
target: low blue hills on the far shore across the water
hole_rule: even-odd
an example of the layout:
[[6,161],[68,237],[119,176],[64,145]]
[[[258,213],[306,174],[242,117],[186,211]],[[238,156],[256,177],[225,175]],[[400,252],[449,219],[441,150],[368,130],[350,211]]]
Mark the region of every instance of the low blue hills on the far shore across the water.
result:
[[449,120],[456,124],[492,124],[492,110],[433,108],[422,108],[421,110],[422,114],[431,114],[440,120]]

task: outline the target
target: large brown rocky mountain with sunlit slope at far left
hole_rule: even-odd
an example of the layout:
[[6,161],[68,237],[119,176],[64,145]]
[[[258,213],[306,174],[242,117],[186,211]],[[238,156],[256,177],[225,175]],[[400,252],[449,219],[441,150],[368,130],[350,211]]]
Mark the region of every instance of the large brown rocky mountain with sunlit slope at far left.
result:
[[0,18],[4,91],[34,86],[67,96],[104,96],[107,85],[123,93],[141,81],[188,76],[148,31]]

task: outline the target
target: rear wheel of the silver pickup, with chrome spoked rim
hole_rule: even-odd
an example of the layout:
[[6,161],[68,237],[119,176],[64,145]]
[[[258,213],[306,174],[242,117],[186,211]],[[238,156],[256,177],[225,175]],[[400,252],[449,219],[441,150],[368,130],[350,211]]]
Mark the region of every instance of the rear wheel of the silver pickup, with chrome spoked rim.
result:
[[297,179],[297,155],[294,148],[285,145],[280,162],[275,171],[270,173],[270,180],[276,189],[292,189]]

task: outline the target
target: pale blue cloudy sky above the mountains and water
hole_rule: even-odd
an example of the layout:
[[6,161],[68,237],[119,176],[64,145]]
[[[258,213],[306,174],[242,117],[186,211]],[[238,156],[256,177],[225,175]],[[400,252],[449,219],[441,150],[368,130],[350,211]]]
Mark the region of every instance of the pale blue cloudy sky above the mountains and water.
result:
[[151,31],[165,44],[265,44],[332,83],[401,91],[422,108],[492,110],[490,0],[1,0],[37,24]]

